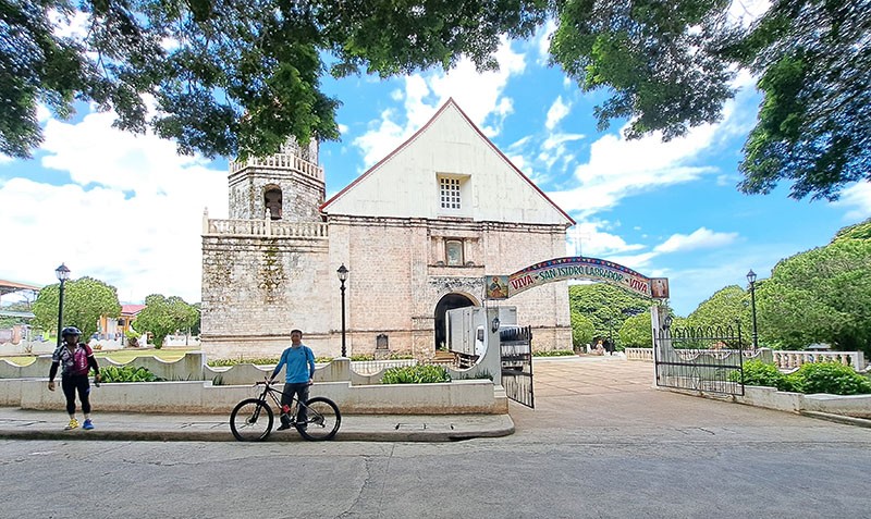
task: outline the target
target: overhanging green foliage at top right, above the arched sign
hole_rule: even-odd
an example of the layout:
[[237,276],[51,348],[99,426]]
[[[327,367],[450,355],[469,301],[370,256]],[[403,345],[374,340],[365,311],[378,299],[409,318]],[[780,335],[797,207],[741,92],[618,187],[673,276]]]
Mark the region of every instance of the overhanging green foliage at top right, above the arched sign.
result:
[[[745,145],[744,193],[792,181],[790,196],[837,198],[871,180],[871,1],[774,0],[749,27],[729,0],[556,2],[553,60],[585,89],[613,92],[601,126],[665,139],[719,121],[737,71],[763,95]],[[736,5],[737,7],[737,5]]]

